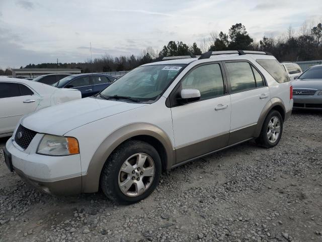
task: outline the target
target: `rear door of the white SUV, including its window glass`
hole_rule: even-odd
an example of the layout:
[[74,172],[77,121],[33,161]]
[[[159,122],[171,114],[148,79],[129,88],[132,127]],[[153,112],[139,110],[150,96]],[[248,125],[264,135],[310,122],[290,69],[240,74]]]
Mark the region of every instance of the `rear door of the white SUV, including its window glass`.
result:
[[230,88],[229,145],[252,138],[260,114],[270,101],[264,76],[247,61],[224,63]]

